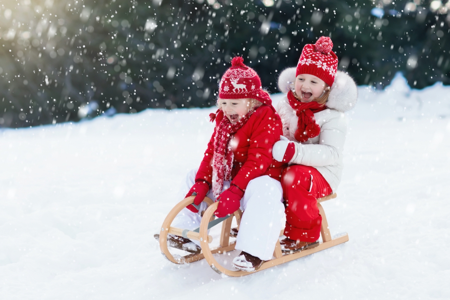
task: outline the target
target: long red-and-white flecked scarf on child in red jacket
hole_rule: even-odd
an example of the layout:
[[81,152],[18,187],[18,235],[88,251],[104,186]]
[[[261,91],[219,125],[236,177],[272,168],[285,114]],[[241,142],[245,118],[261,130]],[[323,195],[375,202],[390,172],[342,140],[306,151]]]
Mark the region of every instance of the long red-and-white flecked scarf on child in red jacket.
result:
[[230,145],[231,138],[236,131],[247,123],[255,110],[247,112],[247,114],[235,124],[231,124],[224,115],[220,123],[216,126],[214,154],[212,157],[212,193],[214,194],[214,197],[217,197],[222,193],[224,180],[230,180],[231,177],[231,169],[234,161],[234,154]]

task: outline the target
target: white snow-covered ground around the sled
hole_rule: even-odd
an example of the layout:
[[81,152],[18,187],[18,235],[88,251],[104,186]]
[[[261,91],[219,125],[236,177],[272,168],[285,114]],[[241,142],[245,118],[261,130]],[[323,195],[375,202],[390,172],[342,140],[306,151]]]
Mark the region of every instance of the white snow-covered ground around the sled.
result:
[[214,108],[0,130],[0,299],[450,299],[450,87],[359,93],[324,203],[349,242],[242,278],[153,239]]

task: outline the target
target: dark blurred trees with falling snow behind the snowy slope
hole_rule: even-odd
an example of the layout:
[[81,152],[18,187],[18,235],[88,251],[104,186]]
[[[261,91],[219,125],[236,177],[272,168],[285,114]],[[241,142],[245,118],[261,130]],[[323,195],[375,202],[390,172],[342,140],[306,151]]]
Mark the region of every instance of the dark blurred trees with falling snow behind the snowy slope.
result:
[[276,93],[279,72],[320,36],[358,85],[382,89],[397,72],[412,88],[450,84],[450,0],[0,4],[1,127],[213,106],[235,55]]

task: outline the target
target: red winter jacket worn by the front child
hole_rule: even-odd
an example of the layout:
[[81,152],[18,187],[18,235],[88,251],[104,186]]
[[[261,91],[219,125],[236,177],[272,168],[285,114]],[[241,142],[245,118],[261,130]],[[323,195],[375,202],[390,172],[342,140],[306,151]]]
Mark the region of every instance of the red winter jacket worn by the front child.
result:
[[[212,177],[212,157],[214,153],[214,136],[222,118],[222,111],[217,113],[216,128],[211,136],[205,156],[200,164],[195,180],[206,180],[210,186]],[[241,129],[231,140],[234,153],[231,184],[245,191],[250,180],[262,175],[280,181],[285,164],[272,158],[272,146],[283,135],[280,117],[271,107],[262,105],[255,109]]]

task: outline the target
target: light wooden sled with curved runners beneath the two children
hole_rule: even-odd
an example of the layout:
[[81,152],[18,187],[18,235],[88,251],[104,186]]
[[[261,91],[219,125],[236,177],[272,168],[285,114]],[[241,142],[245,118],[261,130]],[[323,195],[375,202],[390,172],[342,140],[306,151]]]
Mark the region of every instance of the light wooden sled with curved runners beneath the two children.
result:
[[[208,197],[205,197],[205,200],[204,200],[208,204],[208,208],[202,216],[202,221],[200,223],[200,227],[198,228],[199,231],[198,232],[189,231],[189,230],[184,230],[182,228],[174,228],[174,227],[170,226],[173,219],[175,218],[175,216],[184,207],[193,203],[194,196],[190,196],[190,197],[187,197],[184,200],[180,201],[180,203],[178,203],[169,212],[166,219],[162,223],[161,232],[159,234],[159,246],[161,248],[162,254],[165,255],[168,260],[170,260],[171,262],[173,262],[175,264],[188,264],[193,261],[202,260],[203,258],[205,258],[206,261],[208,262],[208,264],[211,266],[211,268],[219,274],[225,274],[227,276],[233,276],[233,277],[248,275],[248,274],[255,273],[255,272],[258,272],[258,271],[261,271],[264,269],[268,269],[268,268],[276,266],[278,264],[283,264],[285,262],[295,260],[297,258],[306,256],[306,255],[310,255],[312,253],[330,248],[332,246],[336,246],[338,244],[347,242],[348,241],[347,233],[345,233],[344,235],[342,235],[340,237],[336,237],[334,239],[331,238],[330,231],[328,228],[327,218],[325,216],[324,209],[323,209],[322,205],[320,204],[320,202],[324,202],[329,199],[336,198],[336,196],[337,195],[334,193],[334,194],[330,194],[326,197],[317,199],[317,206],[319,208],[320,215],[322,216],[322,225],[320,228],[320,236],[322,237],[322,242],[320,242],[318,246],[311,248],[311,249],[298,251],[298,252],[283,253],[281,251],[281,246],[278,241],[275,245],[275,251],[274,251],[274,255],[273,255],[275,258],[272,260],[265,261],[259,269],[252,271],[252,272],[246,272],[246,271],[225,268],[225,266],[220,264],[214,257],[213,254],[226,254],[227,252],[234,250],[235,242],[229,242],[231,224],[232,224],[233,218],[235,218],[236,222],[239,226],[241,216],[242,216],[242,211],[237,210],[236,212],[234,212],[234,215],[232,215],[229,218],[225,217],[225,218],[215,219],[214,211],[216,211],[216,209],[217,209],[218,202],[213,203],[213,201]],[[211,248],[210,243],[212,242],[212,237],[208,235],[208,229],[211,228],[211,226],[214,226],[215,223],[218,223],[222,220],[223,220],[223,223],[222,223],[222,229],[221,229],[221,233],[220,233],[219,246]],[[198,254],[189,254],[189,255],[185,255],[185,256],[172,255],[169,252],[169,249],[167,246],[167,241],[166,241],[167,234],[169,234],[169,233],[200,241],[200,246],[202,248],[202,251]],[[280,236],[281,235],[283,235],[283,230],[280,233]]]

